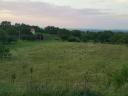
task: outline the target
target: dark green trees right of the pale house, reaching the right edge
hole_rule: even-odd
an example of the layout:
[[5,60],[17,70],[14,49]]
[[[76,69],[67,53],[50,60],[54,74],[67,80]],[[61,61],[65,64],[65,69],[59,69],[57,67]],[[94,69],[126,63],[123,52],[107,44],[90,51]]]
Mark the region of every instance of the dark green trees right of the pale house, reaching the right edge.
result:
[[128,33],[127,32],[112,32],[112,31],[81,31],[81,30],[67,30],[54,26],[48,26],[44,28],[44,32],[47,34],[54,34],[60,37],[64,41],[69,42],[99,42],[99,43],[111,43],[111,44],[127,44]]

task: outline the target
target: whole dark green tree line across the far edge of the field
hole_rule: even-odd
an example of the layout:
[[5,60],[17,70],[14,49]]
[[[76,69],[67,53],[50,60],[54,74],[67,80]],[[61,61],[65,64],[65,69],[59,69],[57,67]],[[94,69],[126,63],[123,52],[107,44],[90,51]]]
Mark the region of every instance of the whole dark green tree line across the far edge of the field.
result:
[[[31,29],[35,30],[35,34]],[[69,42],[100,42],[112,44],[127,44],[127,32],[100,31],[90,32],[81,30],[68,30],[54,26],[40,28],[39,26],[30,26],[27,24],[2,21],[0,24],[0,42],[10,43],[17,40],[43,40],[45,34],[56,35],[63,41]]]

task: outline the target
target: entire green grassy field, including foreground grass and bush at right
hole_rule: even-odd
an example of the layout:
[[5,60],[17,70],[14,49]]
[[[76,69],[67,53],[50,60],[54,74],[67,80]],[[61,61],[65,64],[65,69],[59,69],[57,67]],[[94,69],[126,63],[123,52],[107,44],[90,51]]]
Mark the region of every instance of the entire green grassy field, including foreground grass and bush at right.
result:
[[[127,96],[127,64],[126,45],[21,41],[0,62],[0,96]],[[47,86],[47,94],[24,94],[33,86]],[[23,94],[14,95],[13,88]]]

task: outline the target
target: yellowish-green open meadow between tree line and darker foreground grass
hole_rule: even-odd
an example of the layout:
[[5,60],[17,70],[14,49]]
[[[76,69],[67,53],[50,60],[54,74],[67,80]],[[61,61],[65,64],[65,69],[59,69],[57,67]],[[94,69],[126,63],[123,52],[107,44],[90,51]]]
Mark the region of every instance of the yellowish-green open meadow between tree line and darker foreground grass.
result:
[[22,41],[0,63],[0,82],[18,89],[31,81],[106,92],[114,88],[108,88],[111,75],[127,64],[126,45]]

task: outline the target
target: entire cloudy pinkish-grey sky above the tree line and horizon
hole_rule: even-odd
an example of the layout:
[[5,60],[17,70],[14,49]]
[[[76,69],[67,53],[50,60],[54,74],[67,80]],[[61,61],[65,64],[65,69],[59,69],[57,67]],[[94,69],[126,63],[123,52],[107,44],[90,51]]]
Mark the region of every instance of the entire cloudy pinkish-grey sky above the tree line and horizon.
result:
[[128,29],[128,0],[0,0],[0,22]]

